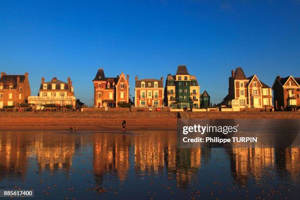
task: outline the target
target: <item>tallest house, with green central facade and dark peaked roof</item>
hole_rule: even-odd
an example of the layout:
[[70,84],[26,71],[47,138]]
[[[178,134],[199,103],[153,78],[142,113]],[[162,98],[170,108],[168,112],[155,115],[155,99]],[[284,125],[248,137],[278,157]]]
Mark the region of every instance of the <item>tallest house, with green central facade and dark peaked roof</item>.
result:
[[179,65],[175,75],[169,74],[165,86],[165,104],[171,108],[200,108],[200,86],[186,66]]

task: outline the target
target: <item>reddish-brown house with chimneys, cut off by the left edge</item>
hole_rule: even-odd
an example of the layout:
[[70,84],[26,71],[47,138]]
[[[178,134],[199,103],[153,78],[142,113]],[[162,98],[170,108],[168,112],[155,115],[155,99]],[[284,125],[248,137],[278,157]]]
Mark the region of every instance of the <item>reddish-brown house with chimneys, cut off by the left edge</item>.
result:
[[25,75],[6,75],[6,73],[1,72],[0,108],[26,103],[30,93],[28,73]]

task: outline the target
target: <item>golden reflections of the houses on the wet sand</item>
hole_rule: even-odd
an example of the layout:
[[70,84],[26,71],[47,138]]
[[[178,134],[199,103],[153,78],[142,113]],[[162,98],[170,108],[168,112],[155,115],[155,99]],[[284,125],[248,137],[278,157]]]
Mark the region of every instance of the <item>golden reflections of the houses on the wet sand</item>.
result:
[[[197,178],[203,163],[211,159],[211,149],[178,149],[175,132],[141,132],[140,134],[58,134],[0,133],[0,180],[25,178],[30,159],[38,163],[40,173],[62,170],[74,164],[81,144],[93,150],[93,173],[97,185],[104,175],[125,181],[129,170],[140,178],[149,174],[166,174],[177,186],[185,187]],[[259,182],[268,169],[275,169],[281,178],[298,179],[300,148],[233,148],[226,149],[231,174],[241,186],[250,178]],[[220,154],[219,156],[224,156]],[[213,166],[212,166],[213,167]],[[287,174],[284,174],[287,172]]]

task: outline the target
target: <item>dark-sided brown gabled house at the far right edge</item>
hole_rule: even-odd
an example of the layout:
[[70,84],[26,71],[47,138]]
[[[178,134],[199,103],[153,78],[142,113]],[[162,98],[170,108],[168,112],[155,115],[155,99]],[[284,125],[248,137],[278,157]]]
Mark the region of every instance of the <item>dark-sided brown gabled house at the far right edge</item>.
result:
[[300,106],[300,78],[277,76],[273,83],[274,109]]

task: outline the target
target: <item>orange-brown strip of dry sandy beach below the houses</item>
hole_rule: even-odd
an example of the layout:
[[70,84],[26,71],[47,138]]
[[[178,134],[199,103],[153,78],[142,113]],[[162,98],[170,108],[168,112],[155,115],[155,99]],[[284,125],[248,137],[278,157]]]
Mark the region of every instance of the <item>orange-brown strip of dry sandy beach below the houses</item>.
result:
[[[297,112],[190,112],[192,119],[300,119]],[[175,130],[177,112],[0,112],[0,130]]]

